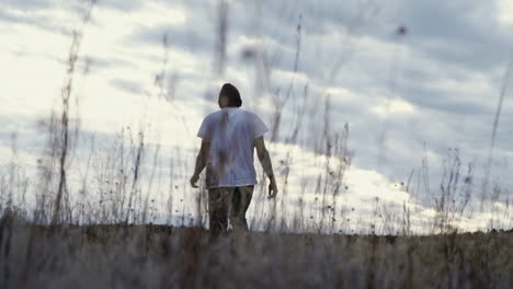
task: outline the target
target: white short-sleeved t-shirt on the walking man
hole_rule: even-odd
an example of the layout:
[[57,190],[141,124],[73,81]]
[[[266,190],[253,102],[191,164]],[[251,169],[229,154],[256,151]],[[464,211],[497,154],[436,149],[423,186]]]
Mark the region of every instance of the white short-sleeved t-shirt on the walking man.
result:
[[267,131],[260,117],[237,107],[226,107],[205,117],[197,136],[210,142],[207,187],[255,185],[253,141]]

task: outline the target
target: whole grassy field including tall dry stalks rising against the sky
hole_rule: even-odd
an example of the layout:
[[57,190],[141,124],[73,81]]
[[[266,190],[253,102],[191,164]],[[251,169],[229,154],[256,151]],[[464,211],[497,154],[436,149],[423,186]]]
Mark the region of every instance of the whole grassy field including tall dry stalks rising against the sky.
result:
[[[44,122],[47,143],[35,173],[29,175],[19,162],[16,148],[0,167],[0,289],[513,288],[513,231],[499,230],[513,224],[510,190],[490,175],[493,144],[483,184],[470,163],[465,169],[456,149],[444,160],[442,180],[430,181],[422,160],[397,189],[409,195],[408,201],[387,203],[373,192],[376,197],[363,204],[371,209],[360,210],[341,201],[354,154],[349,125],[333,126],[328,90],[310,95],[309,83],[303,95],[270,93],[270,144],[285,152],[275,162],[278,200],[267,201],[260,182],[248,217],[252,231],[212,239],[205,229],[206,190],[184,185],[192,173],[190,151],[166,154],[144,127],[123,128],[107,138],[111,142],[100,143],[103,150],[81,135],[73,83],[83,26],[96,3],[89,2],[83,25],[72,34],[58,104]],[[226,27],[219,30],[225,35]],[[294,73],[300,23],[295,33]],[[163,44],[169,48],[166,36]],[[157,81],[162,76],[156,77],[157,90],[163,90]],[[276,91],[290,91],[293,81]],[[290,100],[294,112],[285,108]],[[307,109],[311,102],[317,111]],[[286,113],[294,124],[280,141]],[[293,153],[299,131],[311,128],[321,132],[314,148]],[[297,155],[312,162],[301,163]],[[300,170],[293,166],[297,163]],[[303,171],[310,178],[293,177]],[[423,193],[429,203],[417,199]],[[485,217],[472,219],[478,212]],[[487,232],[466,232],[468,223],[482,220],[490,224],[479,223]],[[358,234],[350,234],[358,228]]]

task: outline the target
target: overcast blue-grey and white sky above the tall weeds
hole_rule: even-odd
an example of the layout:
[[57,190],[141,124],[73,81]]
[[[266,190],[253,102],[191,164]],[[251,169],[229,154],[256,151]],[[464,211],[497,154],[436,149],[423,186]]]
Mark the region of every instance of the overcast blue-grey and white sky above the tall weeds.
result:
[[[44,143],[41,122],[58,105],[71,32],[81,25],[86,2],[2,0],[2,163],[11,158],[15,132],[19,154],[35,165]],[[329,99],[330,129],[349,124],[351,131],[347,199],[412,198],[395,185],[418,173],[423,159],[436,190],[444,160],[454,155],[449,149],[458,149],[464,167],[474,163],[472,185],[480,185],[513,51],[512,2],[221,3],[99,0],[82,31],[73,90],[82,131],[101,141],[123,127],[144,128],[150,143],[179,146],[193,155],[202,118],[217,109],[220,85],[231,82],[243,108],[270,127],[273,100],[292,93],[281,107],[278,154],[290,149],[285,142],[308,86],[294,149],[312,155]],[[161,86],[155,82],[159,74]],[[505,192],[500,201],[511,197],[512,143],[513,101],[506,91],[491,174]],[[296,170],[305,170],[298,163]],[[433,205],[433,196],[414,198]]]

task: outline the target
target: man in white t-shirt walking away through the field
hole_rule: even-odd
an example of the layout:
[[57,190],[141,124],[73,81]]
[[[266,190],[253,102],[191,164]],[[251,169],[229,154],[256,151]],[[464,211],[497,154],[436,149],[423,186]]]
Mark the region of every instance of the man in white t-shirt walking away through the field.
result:
[[200,174],[206,167],[213,235],[227,230],[228,215],[233,230],[248,230],[246,211],[256,184],[254,149],[270,180],[269,198],[274,198],[278,192],[263,138],[269,131],[265,124],[255,114],[240,108],[239,91],[230,83],[223,85],[218,104],[220,109],[205,117],[197,132],[202,147],[191,177],[191,185],[197,187]]

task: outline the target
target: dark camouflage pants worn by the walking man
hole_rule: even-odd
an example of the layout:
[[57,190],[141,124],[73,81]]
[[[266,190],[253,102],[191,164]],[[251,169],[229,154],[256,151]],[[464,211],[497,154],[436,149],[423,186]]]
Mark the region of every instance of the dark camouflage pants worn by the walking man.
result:
[[226,231],[228,215],[233,230],[248,230],[246,211],[251,203],[253,188],[254,186],[242,186],[208,189],[208,217],[214,234]]

